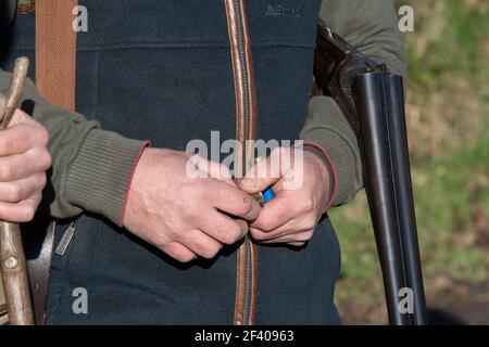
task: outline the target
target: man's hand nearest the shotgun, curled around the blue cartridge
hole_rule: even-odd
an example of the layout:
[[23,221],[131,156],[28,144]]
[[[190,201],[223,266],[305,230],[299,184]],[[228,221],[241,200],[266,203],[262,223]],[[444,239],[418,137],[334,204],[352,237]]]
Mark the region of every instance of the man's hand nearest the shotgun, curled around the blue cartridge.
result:
[[[254,240],[262,243],[305,244],[313,235],[330,200],[330,178],[325,164],[310,152],[279,147],[266,160],[250,169],[239,182],[249,194],[272,185],[275,198],[267,202],[250,226]],[[296,155],[294,155],[296,154]],[[284,165],[289,163],[288,165]],[[288,166],[285,167],[285,166]]]

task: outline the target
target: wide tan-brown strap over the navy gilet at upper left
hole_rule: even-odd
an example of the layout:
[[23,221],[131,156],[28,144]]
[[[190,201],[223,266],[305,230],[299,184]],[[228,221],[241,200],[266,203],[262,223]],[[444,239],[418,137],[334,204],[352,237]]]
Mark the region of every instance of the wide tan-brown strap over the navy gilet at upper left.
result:
[[70,110],[75,110],[77,5],[78,0],[36,1],[36,86],[50,103]]

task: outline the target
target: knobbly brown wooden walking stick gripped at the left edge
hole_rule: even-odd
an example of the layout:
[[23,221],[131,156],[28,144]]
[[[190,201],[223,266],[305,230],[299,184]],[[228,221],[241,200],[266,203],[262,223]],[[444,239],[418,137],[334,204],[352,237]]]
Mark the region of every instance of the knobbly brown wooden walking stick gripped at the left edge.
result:
[[[24,89],[29,61],[15,61],[0,131],[7,129]],[[0,221],[0,259],[9,320],[12,325],[34,325],[27,267],[18,223]]]

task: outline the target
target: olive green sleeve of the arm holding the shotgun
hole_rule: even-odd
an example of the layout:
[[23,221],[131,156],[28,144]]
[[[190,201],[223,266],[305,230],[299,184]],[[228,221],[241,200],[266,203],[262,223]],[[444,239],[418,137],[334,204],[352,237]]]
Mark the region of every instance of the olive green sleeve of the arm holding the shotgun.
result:
[[[324,0],[319,22],[349,43],[405,77],[405,59],[393,0]],[[301,139],[326,149],[336,170],[333,205],[351,201],[363,187],[356,137],[336,102],[329,97],[310,100]],[[329,170],[333,170],[329,167]]]

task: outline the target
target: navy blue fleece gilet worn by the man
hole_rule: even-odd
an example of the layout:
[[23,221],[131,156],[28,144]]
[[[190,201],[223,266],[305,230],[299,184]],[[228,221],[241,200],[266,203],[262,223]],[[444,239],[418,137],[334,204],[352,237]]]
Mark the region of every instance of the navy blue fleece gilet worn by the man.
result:
[[[104,129],[185,151],[192,139],[235,138],[235,91],[225,8],[217,0],[82,0],[77,111]],[[298,139],[313,68],[319,0],[250,0],[258,138]],[[34,14],[17,17],[9,56],[34,59]],[[4,67],[9,69],[12,62]],[[158,179],[158,178],[154,178]],[[59,242],[66,226],[57,231]],[[84,215],[54,255],[50,324],[231,324],[236,246],[213,260],[173,261],[97,216]],[[339,247],[325,218],[302,249],[259,247],[256,323],[334,324]],[[75,314],[74,288],[88,293]]]

